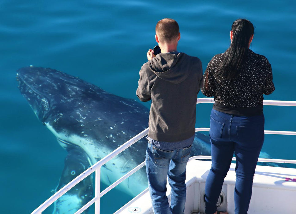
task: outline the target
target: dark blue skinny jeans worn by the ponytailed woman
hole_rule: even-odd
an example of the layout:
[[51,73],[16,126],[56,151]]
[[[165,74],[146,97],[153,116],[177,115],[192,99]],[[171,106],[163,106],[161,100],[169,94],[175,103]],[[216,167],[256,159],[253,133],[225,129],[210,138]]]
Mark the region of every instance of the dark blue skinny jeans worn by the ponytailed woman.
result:
[[210,117],[212,167],[205,186],[206,214],[216,212],[223,181],[236,157],[235,214],[246,214],[253,177],[264,141],[264,115],[234,116],[212,109]]

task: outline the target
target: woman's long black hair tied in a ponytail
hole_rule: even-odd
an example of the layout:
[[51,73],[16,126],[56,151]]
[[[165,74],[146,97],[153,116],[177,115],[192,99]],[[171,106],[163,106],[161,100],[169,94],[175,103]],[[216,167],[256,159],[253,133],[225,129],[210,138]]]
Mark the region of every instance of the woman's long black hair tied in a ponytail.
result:
[[254,34],[254,26],[249,20],[237,19],[233,22],[231,31],[232,42],[218,72],[219,76],[226,79],[234,79],[242,72],[248,59],[249,41]]

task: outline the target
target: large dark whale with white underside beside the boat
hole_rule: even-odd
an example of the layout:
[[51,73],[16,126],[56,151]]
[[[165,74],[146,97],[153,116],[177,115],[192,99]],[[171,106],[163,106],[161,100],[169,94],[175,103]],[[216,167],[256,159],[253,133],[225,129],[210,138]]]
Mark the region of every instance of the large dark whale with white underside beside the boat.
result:
[[[17,70],[18,88],[37,118],[67,151],[56,191],[97,161],[148,127],[149,109],[78,77],[28,66]],[[141,139],[101,168],[101,182],[110,185],[145,160],[147,140]],[[206,135],[197,133],[191,156],[209,155]],[[130,196],[147,188],[145,169],[118,189]],[[54,203],[53,213],[73,213],[93,197],[93,178],[81,181]]]

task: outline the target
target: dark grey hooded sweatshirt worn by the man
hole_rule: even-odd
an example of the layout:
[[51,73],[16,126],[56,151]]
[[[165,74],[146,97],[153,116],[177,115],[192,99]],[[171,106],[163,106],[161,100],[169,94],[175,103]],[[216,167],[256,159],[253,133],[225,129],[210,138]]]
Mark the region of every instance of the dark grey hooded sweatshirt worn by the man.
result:
[[152,100],[148,136],[163,142],[192,137],[203,80],[200,59],[177,51],[160,53],[139,74],[137,97],[143,102]]

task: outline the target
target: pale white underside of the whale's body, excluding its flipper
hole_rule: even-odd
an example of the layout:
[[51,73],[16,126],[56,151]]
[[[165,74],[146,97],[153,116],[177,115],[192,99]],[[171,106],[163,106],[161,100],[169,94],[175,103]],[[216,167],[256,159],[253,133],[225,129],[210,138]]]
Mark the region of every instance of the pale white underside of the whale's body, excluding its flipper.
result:
[[[95,164],[97,161],[101,160],[103,157],[107,156],[109,153],[113,151],[113,149],[110,149],[107,145],[104,145],[103,143],[92,143],[92,139],[83,138],[79,135],[68,135],[68,133],[58,133],[49,123],[45,123],[45,125],[57,138],[61,139],[62,141],[66,141],[72,143],[73,145],[81,147],[81,149],[88,154],[90,165]],[[58,141],[59,144],[63,148],[67,147],[66,144],[62,143],[62,141]],[[145,154],[143,154],[143,156],[144,155]],[[129,155],[121,155],[116,156],[112,160],[107,162],[101,168],[101,181],[103,181],[103,183],[105,184],[110,185],[111,183],[114,183],[116,180],[125,175],[128,171],[132,170],[138,164],[140,164],[135,163],[133,160],[130,160],[129,158]],[[146,174],[140,175],[140,177],[143,177],[144,179],[139,180],[138,176],[131,176],[129,179],[126,179],[121,184],[119,184],[118,189],[133,197],[136,196],[139,193],[139,190],[144,190],[145,188],[147,188],[148,185]]]

